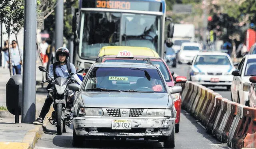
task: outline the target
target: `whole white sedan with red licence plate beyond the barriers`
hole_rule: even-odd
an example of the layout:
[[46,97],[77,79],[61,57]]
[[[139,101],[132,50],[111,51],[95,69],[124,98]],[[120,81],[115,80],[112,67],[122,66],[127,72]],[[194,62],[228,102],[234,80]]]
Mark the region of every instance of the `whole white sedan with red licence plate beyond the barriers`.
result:
[[227,86],[232,83],[235,67],[230,56],[221,52],[200,52],[190,67],[188,78],[204,86]]

